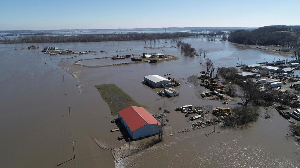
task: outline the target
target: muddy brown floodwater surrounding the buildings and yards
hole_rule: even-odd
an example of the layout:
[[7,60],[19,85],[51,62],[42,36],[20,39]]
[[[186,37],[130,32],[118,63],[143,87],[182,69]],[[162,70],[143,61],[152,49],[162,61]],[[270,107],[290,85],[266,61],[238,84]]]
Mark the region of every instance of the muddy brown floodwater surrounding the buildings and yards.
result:
[[[236,62],[253,64],[264,60],[272,62],[274,54],[253,49],[250,46],[230,42],[202,41],[201,38],[185,38],[196,49],[208,50],[206,58],[220,67],[236,66]],[[58,44],[0,44],[1,71],[1,117],[0,117],[0,163],[1,167],[299,167],[299,147],[293,138],[285,138],[288,122],[274,110],[271,119],[259,117],[245,130],[216,127],[220,133],[212,133],[212,127],[177,133],[189,128],[184,115],[173,109],[182,105],[231,107],[236,103],[222,105],[221,101],[202,100],[195,95],[194,86],[187,77],[204,68],[199,64],[203,58],[184,57],[176,44],[143,44],[143,41],[58,43]],[[58,46],[59,49],[100,51],[107,53],[50,57],[41,50],[20,50],[29,45]],[[165,46],[161,49],[149,49]],[[147,48],[145,48],[147,47]],[[125,51],[133,49],[131,51]],[[116,52],[122,50],[121,52]],[[100,58],[125,54],[163,53],[178,56],[179,60],[157,64],[131,64],[105,68],[86,68],[73,65],[75,60]],[[65,58],[65,59],[63,59]],[[68,58],[68,59],[67,59]],[[289,58],[278,54],[275,61]],[[61,61],[63,59],[63,61]],[[106,58],[103,58],[106,60]],[[89,62],[98,65],[99,60]],[[117,60],[113,60],[117,61]],[[143,76],[171,74],[183,81],[176,88],[180,96],[160,99],[153,90],[141,84]],[[101,140],[103,146],[116,148],[114,156],[129,154],[128,143],[117,141],[120,132],[110,123],[111,116],[106,102],[93,86],[114,83],[138,103],[150,107],[155,114],[158,107],[171,111],[165,128],[163,142],[141,152],[132,154],[116,163],[112,152],[99,147],[92,138]],[[71,107],[70,109],[68,107]],[[70,110],[70,115],[69,114]],[[261,112],[263,116],[263,110]],[[170,134],[173,134],[171,136]],[[139,142],[132,142],[134,148]],[[147,158],[147,159],[146,159]]]

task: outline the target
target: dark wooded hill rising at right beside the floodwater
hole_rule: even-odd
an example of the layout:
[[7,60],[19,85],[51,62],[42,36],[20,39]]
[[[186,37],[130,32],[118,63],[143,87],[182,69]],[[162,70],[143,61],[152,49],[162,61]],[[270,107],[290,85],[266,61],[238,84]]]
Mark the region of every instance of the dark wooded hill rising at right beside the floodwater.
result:
[[300,26],[265,26],[258,29],[236,30],[228,41],[239,44],[282,45],[292,47],[300,44]]

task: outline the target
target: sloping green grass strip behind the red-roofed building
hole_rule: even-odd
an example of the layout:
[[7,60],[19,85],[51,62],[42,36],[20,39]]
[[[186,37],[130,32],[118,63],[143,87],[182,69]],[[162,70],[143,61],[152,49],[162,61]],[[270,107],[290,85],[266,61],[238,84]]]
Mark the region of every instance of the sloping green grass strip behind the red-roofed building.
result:
[[100,92],[103,100],[108,104],[112,115],[117,115],[120,110],[130,105],[148,108],[136,102],[132,97],[125,93],[115,84],[95,85]]

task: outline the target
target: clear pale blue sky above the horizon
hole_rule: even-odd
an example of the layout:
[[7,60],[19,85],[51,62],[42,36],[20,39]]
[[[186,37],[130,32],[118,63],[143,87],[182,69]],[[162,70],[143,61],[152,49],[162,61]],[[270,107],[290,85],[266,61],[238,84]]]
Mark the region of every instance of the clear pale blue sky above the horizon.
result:
[[300,25],[300,0],[3,0],[0,30]]

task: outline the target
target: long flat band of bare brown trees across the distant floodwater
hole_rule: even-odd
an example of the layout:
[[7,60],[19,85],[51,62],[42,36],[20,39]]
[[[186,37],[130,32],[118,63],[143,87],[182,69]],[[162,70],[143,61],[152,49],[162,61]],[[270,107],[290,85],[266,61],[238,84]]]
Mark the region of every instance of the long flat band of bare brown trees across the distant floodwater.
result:
[[128,41],[149,40],[156,43],[156,39],[177,39],[190,36],[187,32],[178,33],[128,33],[128,34],[89,34],[89,35],[34,35],[24,36],[16,40],[5,39],[2,43],[67,43],[67,42],[100,42],[100,41]]

